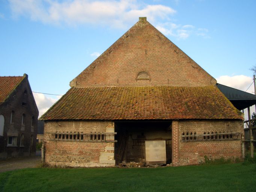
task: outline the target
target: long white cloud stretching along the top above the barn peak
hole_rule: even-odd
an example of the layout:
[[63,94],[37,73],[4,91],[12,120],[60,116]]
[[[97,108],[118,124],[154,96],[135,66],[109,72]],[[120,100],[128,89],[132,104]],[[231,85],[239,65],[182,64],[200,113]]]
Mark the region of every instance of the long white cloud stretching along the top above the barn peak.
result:
[[9,0],[14,17],[26,16],[50,24],[103,24],[122,28],[138,17],[151,22],[165,19],[176,10],[164,5],[140,4],[136,0]]

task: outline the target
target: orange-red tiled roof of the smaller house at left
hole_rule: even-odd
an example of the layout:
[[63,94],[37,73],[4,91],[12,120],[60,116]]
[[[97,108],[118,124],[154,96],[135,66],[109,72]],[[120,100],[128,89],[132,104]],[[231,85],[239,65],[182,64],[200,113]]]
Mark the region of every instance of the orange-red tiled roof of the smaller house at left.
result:
[[0,77],[0,105],[16,89],[25,76]]

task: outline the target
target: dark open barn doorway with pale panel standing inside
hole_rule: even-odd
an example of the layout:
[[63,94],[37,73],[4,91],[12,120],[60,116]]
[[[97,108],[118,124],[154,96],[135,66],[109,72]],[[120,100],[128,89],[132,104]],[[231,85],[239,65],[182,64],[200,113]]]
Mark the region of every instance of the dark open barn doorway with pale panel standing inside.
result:
[[115,122],[114,158],[119,163],[164,165],[172,162],[172,121]]

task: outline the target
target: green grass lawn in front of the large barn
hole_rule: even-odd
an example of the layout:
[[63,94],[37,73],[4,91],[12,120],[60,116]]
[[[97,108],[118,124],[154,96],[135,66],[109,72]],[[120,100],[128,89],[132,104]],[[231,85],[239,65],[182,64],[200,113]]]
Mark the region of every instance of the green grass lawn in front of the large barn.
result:
[[256,191],[256,164],[159,168],[29,168],[0,174],[0,191]]

